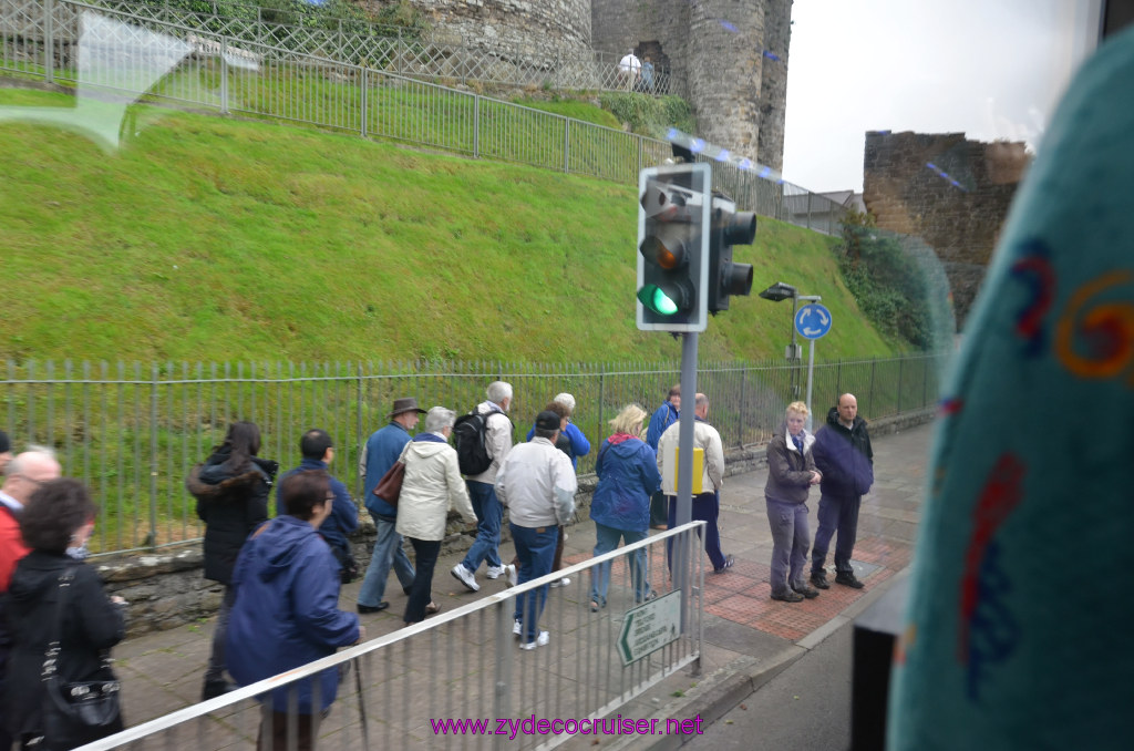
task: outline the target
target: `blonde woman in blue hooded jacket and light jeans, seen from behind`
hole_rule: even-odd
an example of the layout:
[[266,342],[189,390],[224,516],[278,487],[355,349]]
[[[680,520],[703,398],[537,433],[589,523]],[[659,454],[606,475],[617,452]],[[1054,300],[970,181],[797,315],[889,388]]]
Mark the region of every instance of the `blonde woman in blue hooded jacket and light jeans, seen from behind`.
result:
[[[650,496],[661,486],[658,457],[641,438],[645,410],[636,404],[625,407],[610,421],[613,434],[602,444],[594,471],[599,486],[591,500],[594,521],[594,555],[601,556],[618,547],[644,540],[650,533]],[[645,576],[645,550],[636,551],[629,560],[634,583],[634,601],[651,597]],[[610,563],[595,567],[591,574],[591,611],[607,607],[607,587],[610,583]]]

